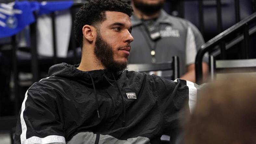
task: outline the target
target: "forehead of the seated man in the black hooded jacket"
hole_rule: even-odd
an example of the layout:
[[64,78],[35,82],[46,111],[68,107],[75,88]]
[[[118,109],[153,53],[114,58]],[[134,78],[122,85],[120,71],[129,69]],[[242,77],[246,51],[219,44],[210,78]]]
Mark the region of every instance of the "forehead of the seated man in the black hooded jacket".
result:
[[122,12],[116,11],[106,11],[106,23],[123,23],[125,25],[131,26],[131,19],[130,17]]

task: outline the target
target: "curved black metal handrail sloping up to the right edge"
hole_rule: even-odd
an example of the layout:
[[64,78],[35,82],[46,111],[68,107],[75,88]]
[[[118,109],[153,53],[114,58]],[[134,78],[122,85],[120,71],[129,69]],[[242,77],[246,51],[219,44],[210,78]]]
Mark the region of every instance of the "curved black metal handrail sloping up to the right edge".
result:
[[[238,22],[237,24],[233,25],[232,27],[228,28],[227,30],[223,31],[222,33],[218,34],[217,36],[215,36],[214,38],[212,38],[211,40],[209,40],[208,42],[206,42],[205,44],[203,44],[201,46],[201,48],[199,49],[199,51],[197,53],[196,61],[195,61],[196,82],[197,83],[200,82],[200,80],[202,79],[202,59],[203,59],[203,55],[206,52],[209,52],[212,49],[214,49],[214,47],[216,45],[221,44],[221,42],[226,37],[230,36],[234,32],[237,32],[239,30],[242,31],[243,28],[245,28],[245,27],[248,28],[248,24],[251,23],[255,19],[256,19],[256,12],[251,14],[249,17],[243,19],[242,21]],[[247,37],[247,35],[246,35],[247,33],[249,35],[249,31],[244,33],[244,37]]]

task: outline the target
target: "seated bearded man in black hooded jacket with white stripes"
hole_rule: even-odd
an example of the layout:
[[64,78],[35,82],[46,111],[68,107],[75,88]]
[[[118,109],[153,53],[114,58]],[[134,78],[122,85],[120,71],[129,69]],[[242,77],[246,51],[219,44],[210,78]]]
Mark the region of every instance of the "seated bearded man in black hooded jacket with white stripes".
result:
[[178,113],[193,108],[198,86],[124,70],[132,12],[123,0],[89,0],[80,8],[74,33],[81,63],[54,65],[27,90],[16,144],[159,144],[178,127]]

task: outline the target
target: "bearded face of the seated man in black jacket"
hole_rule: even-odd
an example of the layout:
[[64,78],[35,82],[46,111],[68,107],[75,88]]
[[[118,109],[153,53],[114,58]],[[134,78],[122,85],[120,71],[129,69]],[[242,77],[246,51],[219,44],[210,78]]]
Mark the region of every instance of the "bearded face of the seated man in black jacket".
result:
[[121,12],[106,11],[106,20],[98,30],[94,53],[97,59],[112,71],[126,68],[130,54],[132,24],[130,17]]

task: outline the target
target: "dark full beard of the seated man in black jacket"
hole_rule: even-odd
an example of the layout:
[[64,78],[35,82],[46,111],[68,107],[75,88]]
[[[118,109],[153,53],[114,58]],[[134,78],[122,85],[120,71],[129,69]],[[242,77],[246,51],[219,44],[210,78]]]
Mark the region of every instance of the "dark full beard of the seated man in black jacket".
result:
[[127,67],[127,62],[118,62],[114,60],[113,48],[102,39],[99,32],[97,32],[94,54],[101,64],[109,71],[123,71]]

